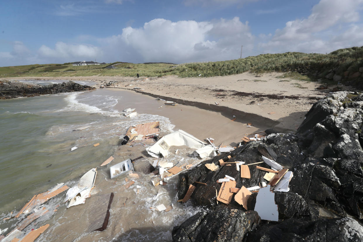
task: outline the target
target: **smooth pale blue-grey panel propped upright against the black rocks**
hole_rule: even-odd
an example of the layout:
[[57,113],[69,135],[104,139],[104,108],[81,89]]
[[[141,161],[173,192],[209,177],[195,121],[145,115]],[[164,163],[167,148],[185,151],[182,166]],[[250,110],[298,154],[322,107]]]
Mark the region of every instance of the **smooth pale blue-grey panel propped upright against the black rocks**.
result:
[[262,220],[278,221],[275,193],[270,192],[270,185],[261,188],[258,192],[254,210],[260,215]]

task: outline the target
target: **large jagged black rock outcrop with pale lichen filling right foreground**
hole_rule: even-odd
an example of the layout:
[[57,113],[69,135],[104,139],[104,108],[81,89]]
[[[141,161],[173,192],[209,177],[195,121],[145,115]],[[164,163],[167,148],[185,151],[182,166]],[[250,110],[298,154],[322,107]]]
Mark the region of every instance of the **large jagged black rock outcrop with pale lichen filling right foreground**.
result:
[[[204,164],[219,165],[218,160],[227,160],[227,155],[232,156],[228,162],[250,164],[262,161],[264,155],[293,171],[290,191],[274,192],[279,222],[255,223],[256,228],[247,237],[238,237],[240,241],[362,241],[363,227],[357,222],[363,219],[363,110],[359,107],[362,100],[362,94],[330,94],[313,105],[297,134],[268,132],[263,141],[249,141],[229,154],[204,161],[203,165],[179,175],[178,199],[184,197],[189,184],[200,181],[207,186],[197,185],[191,202],[214,210],[211,213],[214,217],[218,217],[221,206],[253,212],[256,193],[248,200],[248,211],[233,198],[228,205],[217,205],[216,189],[221,184],[216,181],[229,175],[236,179],[237,188],[242,185],[248,188],[266,182],[263,178],[266,172],[250,166],[251,178],[245,179],[234,164],[217,171],[207,169]],[[259,165],[270,168],[265,163]],[[216,222],[210,223],[213,227]],[[225,230],[233,230],[233,224]],[[174,241],[179,238],[177,231],[173,231]],[[212,241],[218,240],[220,231],[215,233]],[[204,238],[202,231],[186,234],[189,239]]]

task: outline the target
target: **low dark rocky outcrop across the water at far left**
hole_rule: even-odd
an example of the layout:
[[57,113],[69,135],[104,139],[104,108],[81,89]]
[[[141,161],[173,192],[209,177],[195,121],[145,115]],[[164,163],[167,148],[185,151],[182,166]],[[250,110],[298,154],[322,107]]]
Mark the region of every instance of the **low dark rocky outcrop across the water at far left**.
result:
[[0,80],[0,99],[34,97],[42,94],[68,93],[94,89],[94,87],[80,85],[72,81],[43,86],[29,82]]

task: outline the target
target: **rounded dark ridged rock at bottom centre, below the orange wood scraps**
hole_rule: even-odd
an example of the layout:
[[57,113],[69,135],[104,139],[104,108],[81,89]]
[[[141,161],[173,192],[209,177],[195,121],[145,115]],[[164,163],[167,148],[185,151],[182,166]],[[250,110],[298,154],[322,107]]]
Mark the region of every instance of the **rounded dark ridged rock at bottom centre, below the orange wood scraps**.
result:
[[199,212],[172,231],[173,241],[242,241],[255,229],[261,219],[257,212],[220,208],[207,213]]

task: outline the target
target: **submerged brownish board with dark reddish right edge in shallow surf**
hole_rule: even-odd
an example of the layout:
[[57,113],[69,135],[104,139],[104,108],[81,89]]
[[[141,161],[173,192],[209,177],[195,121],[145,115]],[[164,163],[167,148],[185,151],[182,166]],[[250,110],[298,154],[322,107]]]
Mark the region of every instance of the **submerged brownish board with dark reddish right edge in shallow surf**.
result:
[[90,198],[90,208],[87,212],[91,215],[88,232],[103,231],[109,224],[110,208],[114,194],[107,193],[95,195]]

